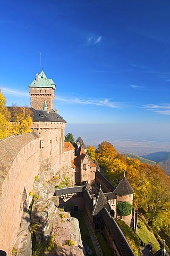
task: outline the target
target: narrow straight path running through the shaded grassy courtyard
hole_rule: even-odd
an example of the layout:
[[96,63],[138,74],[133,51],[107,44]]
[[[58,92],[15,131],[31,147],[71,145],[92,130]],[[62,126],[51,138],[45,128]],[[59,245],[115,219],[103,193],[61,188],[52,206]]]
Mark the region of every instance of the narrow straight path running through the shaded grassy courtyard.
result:
[[83,212],[82,216],[83,216],[83,218],[84,218],[84,220],[86,222],[86,225],[87,225],[87,228],[89,230],[90,237],[91,237],[91,241],[94,244],[97,256],[103,256],[103,253],[101,251],[101,248],[100,248],[100,245],[98,243],[97,237],[95,235],[94,229],[91,226],[90,220],[88,219],[86,213]]

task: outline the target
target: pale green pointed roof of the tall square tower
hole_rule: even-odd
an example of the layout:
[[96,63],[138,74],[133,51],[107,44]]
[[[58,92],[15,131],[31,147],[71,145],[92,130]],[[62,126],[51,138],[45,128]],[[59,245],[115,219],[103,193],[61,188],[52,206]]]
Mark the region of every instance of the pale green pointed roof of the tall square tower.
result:
[[36,75],[29,87],[53,88],[55,90],[56,85],[52,79],[46,77],[44,71],[41,71],[39,75]]

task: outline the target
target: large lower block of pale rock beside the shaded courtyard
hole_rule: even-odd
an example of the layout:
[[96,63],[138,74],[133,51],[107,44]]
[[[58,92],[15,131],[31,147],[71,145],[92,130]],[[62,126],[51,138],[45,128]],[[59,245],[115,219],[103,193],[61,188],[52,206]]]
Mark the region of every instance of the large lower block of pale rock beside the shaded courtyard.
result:
[[52,251],[46,251],[47,255],[86,255],[81,241],[79,221],[70,217],[70,213],[57,209],[52,200],[37,200],[32,207],[31,221],[32,225],[37,227],[37,243],[44,243],[42,241],[53,237],[55,246]]

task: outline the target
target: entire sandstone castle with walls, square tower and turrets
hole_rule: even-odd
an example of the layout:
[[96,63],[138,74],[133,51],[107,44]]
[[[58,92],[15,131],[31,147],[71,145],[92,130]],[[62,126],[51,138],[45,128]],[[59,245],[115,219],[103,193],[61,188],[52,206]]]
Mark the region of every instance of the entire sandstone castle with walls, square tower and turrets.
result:
[[29,207],[32,200],[30,191],[36,175],[43,172],[48,180],[66,173],[73,187],[55,191],[60,204],[66,207],[70,200],[73,211],[85,210],[94,227],[104,230],[117,255],[134,255],[113,218],[121,218],[130,225],[132,211],[128,217],[118,215],[116,204],[132,205],[134,191],[126,177],[114,188],[91,161],[81,138],[74,147],[64,142],[66,121],[57,109],[53,110],[55,89],[55,83],[43,70],[36,74],[29,85],[32,133],[0,142],[0,247],[8,253],[12,251],[23,208]]

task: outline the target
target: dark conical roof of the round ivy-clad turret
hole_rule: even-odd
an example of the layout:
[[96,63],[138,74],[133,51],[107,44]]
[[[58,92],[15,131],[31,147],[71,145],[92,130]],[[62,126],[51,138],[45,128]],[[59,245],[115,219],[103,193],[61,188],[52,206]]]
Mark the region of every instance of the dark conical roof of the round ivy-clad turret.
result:
[[129,181],[126,179],[125,175],[123,179],[120,181],[120,183],[118,183],[113,193],[118,196],[125,196],[125,195],[130,195],[134,193],[134,190],[131,187]]

